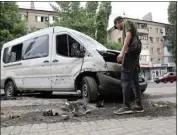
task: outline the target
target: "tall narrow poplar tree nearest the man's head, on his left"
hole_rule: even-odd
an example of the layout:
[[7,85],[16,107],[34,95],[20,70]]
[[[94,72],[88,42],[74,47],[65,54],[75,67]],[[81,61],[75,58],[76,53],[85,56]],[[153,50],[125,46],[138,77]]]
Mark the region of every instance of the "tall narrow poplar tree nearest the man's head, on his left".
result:
[[96,19],[96,39],[101,44],[107,42],[107,27],[110,14],[111,2],[101,2]]

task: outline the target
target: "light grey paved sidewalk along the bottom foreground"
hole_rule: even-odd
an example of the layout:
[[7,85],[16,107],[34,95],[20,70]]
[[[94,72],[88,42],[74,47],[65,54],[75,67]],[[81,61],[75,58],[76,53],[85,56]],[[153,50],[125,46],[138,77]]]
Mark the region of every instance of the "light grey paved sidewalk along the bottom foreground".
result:
[[176,135],[176,116],[10,126],[1,135]]

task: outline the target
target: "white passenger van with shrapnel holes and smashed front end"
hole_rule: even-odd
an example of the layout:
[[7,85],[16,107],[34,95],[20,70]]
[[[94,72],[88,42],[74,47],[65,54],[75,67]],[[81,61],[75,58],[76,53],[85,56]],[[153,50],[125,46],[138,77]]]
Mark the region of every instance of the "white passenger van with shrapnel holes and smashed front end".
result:
[[[122,91],[118,54],[78,31],[45,28],[3,45],[1,88],[6,96],[56,91],[94,102],[100,94]],[[147,87],[143,78],[140,87]]]

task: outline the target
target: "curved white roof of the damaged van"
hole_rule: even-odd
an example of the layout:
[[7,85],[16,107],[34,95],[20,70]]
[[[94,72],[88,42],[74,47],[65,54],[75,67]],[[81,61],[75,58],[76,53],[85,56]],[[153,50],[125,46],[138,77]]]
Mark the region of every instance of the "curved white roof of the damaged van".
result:
[[[27,35],[24,35],[22,37],[19,37],[19,38],[16,38],[12,41],[9,41],[7,43],[5,43],[3,45],[3,48],[5,47],[9,47],[9,46],[12,46],[12,45],[16,45],[16,44],[20,44],[30,38],[35,38],[37,36],[40,36],[40,35],[44,35],[44,34],[48,34],[48,33],[53,33],[53,31],[55,32],[61,32],[61,31],[65,31],[65,32],[78,32],[76,30],[73,30],[73,29],[69,29],[69,28],[65,28],[65,27],[60,27],[60,26],[55,26],[55,27],[48,27],[48,28],[44,28],[44,29],[41,29],[41,30],[38,30],[38,31],[35,31],[35,32],[32,32],[32,33],[29,33]],[[80,33],[80,32],[79,32]]]

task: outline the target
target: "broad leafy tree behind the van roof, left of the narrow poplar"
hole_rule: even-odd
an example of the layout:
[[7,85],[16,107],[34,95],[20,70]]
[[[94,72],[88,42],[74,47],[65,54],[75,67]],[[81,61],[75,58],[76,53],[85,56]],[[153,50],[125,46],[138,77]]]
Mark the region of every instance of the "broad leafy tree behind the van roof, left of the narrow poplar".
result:
[[55,26],[75,29],[95,38],[98,2],[87,2],[86,7],[81,7],[80,2],[57,2],[57,5],[51,5],[57,11]]

